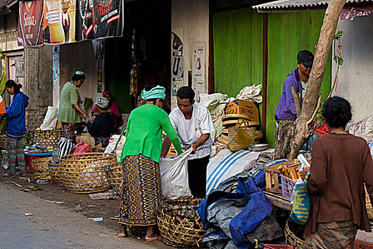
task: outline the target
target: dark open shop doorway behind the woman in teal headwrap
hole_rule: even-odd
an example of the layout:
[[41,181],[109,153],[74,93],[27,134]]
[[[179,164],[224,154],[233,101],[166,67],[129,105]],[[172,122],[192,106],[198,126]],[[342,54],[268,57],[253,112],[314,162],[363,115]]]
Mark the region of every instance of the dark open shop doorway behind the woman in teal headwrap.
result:
[[[124,35],[105,39],[104,53],[105,89],[112,92],[121,113],[129,113],[139,104],[146,84],[166,88],[166,111],[170,110],[171,0],[125,3]],[[135,92],[130,92],[135,63],[139,78]]]

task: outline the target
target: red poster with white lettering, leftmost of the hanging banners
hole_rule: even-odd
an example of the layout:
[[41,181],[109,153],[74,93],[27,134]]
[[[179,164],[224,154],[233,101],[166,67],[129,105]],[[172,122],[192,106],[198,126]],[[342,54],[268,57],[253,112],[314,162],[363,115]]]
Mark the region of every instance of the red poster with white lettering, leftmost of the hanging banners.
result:
[[38,46],[43,43],[43,0],[19,3],[18,46]]

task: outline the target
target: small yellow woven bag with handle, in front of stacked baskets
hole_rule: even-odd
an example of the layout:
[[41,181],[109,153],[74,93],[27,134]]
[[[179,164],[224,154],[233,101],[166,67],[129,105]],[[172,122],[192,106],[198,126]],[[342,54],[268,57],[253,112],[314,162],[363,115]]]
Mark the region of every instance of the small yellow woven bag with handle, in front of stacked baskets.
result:
[[255,131],[254,127],[249,127],[247,120],[238,120],[236,127],[228,128],[228,149],[231,152],[247,149],[249,145],[254,143]]

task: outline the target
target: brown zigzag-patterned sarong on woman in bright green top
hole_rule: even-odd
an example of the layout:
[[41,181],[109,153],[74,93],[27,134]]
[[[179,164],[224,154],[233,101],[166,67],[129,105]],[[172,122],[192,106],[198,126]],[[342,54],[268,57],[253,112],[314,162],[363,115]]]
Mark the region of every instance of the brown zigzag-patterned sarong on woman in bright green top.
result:
[[156,213],[161,197],[159,164],[143,155],[123,159],[119,223],[131,226],[156,225]]

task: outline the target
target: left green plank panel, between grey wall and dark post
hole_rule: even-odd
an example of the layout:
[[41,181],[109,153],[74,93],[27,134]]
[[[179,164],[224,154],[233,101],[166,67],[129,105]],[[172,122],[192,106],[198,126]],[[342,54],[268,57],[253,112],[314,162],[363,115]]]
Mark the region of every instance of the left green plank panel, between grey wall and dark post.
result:
[[213,16],[215,92],[236,97],[247,85],[261,83],[263,21],[252,9]]

